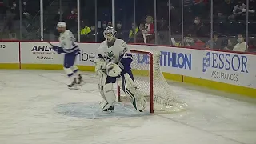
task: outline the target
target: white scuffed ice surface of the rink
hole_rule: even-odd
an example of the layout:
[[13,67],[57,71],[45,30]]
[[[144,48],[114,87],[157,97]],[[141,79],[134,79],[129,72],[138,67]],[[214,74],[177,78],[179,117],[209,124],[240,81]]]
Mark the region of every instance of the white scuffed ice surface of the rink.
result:
[[63,71],[0,70],[0,144],[256,144],[253,102],[174,83],[186,111],[138,114],[118,103],[102,114],[97,78],[84,78],[68,90]]

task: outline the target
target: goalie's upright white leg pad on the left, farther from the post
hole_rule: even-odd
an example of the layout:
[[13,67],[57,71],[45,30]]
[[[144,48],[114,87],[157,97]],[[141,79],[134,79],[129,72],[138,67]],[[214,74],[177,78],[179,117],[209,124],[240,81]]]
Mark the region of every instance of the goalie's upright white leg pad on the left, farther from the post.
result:
[[113,90],[113,83],[115,81],[116,78],[108,77],[106,74],[102,74],[100,77],[98,88],[103,98],[103,102],[100,103],[102,110],[106,110],[111,106],[114,106],[116,96]]

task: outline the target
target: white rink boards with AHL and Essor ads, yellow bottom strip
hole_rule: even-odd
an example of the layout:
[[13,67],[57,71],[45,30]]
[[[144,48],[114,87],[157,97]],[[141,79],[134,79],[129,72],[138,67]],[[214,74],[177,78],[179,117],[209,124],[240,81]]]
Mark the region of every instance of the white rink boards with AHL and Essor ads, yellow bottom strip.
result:
[[[79,68],[94,71],[92,61],[99,44],[79,43],[79,46],[82,50],[76,60]],[[145,45],[130,45],[130,49],[158,51],[166,79],[256,98],[255,54]],[[148,68],[148,56],[137,56],[135,64]],[[0,42],[1,69],[62,70],[62,63],[63,55],[55,53],[47,42]],[[148,77],[146,70],[134,70],[134,74]]]

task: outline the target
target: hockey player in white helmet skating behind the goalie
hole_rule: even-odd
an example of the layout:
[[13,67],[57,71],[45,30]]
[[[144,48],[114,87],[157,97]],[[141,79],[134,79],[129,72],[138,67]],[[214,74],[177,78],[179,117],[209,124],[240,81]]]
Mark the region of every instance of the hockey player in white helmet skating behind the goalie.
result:
[[57,30],[59,32],[59,46],[53,46],[54,51],[58,54],[64,54],[64,70],[71,80],[68,85],[70,89],[78,89],[83,80],[77,66],[74,66],[75,59],[79,54],[78,43],[75,42],[74,35],[70,30],[66,30],[66,22],[58,22]]

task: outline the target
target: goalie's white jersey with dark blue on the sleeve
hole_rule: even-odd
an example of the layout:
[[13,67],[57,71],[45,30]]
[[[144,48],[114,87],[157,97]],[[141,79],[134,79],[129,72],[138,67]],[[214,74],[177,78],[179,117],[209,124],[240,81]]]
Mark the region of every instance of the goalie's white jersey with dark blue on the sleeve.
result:
[[108,46],[107,42],[103,41],[98,48],[98,57],[104,58],[106,62],[118,64],[123,70],[130,70],[132,54],[122,39],[115,39],[112,46]]

